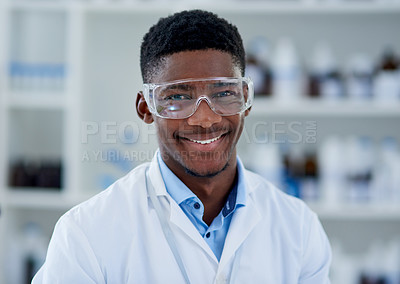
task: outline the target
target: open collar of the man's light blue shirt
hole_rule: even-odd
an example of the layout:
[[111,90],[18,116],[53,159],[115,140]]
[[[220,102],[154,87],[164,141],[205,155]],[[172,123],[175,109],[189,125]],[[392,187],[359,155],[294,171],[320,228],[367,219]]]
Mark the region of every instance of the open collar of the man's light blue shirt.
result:
[[[238,178],[234,188],[228,196],[228,200],[222,209],[224,217],[235,210],[238,206],[246,205],[246,186],[244,179],[244,167],[239,157],[237,159],[237,171]],[[160,166],[161,176],[164,180],[167,192],[175,200],[175,202],[181,205],[182,202],[190,198],[196,198],[197,196],[168,168],[163,159],[161,158],[160,152],[157,155],[157,161]]]

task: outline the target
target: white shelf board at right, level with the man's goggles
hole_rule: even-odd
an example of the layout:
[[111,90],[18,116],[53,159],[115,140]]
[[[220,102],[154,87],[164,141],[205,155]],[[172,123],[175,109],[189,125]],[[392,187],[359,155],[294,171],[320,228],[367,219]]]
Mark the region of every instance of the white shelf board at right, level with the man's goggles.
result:
[[400,102],[376,103],[320,100],[279,102],[269,98],[256,98],[251,110],[253,116],[342,116],[342,117],[392,117],[400,118]]

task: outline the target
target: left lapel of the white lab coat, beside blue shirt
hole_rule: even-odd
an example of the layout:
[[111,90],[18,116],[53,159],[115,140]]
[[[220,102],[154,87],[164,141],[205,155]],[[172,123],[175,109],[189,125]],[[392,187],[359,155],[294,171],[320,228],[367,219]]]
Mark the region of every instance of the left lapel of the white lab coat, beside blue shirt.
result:
[[157,153],[155,154],[149,168],[150,182],[156,191],[156,195],[163,195],[165,198],[160,198],[160,202],[166,212],[169,212],[169,221],[173,226],[173,231],[178,229],[180,233],[189,236],[197,245],[199,245],[216,263],[218,263],[213,251],[208,246],[206,241],[200,235],[199,231],[192,224],[189,218],[185,215],[179,205],[172,199],[165,188],[164,180],[161,176],[160,167],[157,162]]

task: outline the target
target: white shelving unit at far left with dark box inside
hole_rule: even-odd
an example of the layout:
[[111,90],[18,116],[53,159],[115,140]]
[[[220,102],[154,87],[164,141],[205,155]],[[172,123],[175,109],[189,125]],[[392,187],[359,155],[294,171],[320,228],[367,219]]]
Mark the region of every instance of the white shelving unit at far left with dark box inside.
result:
[[[0,129],[5,137],[0,155],[0,283],[22,283],[22,259],[16,255],[24,226],[39,224],[48,242],[57,219],[88,198],[78,189],[77,158],[83,24],[80,9],[66,2],[0,4]],[[11,62],[20,65],[19,73],[13,73],[20,77],[10,77]],[[10,164],[22,158],[61,161],[61,188],[10,186]]]

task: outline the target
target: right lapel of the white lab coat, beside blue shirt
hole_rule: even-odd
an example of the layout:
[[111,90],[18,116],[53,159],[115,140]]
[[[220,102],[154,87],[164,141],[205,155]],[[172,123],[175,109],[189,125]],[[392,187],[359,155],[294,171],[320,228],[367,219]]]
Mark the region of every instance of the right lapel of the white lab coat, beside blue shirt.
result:
[[246,206],[238,208],[232,216],[219,270],[229,263],[230,259],[261,220],[257,203],[253,200],[252,195],[247,195],[247,198]]

